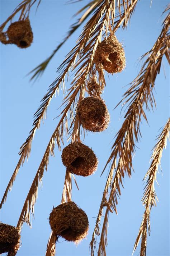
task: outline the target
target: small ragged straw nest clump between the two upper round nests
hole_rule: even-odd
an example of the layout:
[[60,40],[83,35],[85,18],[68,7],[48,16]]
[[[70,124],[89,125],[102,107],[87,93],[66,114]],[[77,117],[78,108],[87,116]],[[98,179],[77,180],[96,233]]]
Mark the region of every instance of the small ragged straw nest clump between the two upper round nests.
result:
[[100,94],[104,90],[104,84],[101,86],[98,84],[96,77],[92,77],[87,83],[88,93],[91,97],[100,97]]

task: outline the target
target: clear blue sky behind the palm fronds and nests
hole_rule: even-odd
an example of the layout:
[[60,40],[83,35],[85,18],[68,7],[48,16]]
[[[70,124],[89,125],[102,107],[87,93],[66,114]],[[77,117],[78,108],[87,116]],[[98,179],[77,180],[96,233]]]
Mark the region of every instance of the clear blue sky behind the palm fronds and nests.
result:
[[[1,23],[11,14],[20,1],[1,0]],[[41,63],[55,46],[61,42],[71,23],[75,21],[72,15],[79,10],[85,2],[65,5],[66,1],[42,0],[38,11],[32,8],[30,21],[34,33],[34,42],[28,49],[19,49],[15,45],[1,45],[1,198],[9,182],[16,164],[18,163],[19,147],[25,141],[32,128],[33,113],[39,106],[39,101],[47,91],[57,74],[56,69],[61,64],[64,56],[75,45],[81,29],[77,31],[63,45],[62,49],[48,65],[45,73],[36,83],[29,82],[29,76],[25,76],[36,65]],[[126,86],[137,75],[139,67],[137,59],[152,48],[161,31],[163,17],[161,13],[168,4],[167,0],[153,0],[150,8],[149,0],[139,1],[131,18],[131,26],[127,30],[117,31],[118,40],[123,42],[126,51],[126,69],[114,76],[106,75],[107,87],[103,98],[107,103],[111,122],[109,128],[103,133],[89,133],[84,143],[92,147],[98,156],[99,165],[97,172],[91,177],[76,177],[80,190],[77,191],[73,184],[73,199],[88,215],[90,229],[87,239],[84,239],[77,247],[74,243],[63,241],[62,238],[56,245],[58,256],[88,256],[90,255],[89,243],[95,225],[95,217],[98,214],[99,205],[104,190],[107,170],[100,178],[101,171],[109,157],[110,149],[114,141],[115,133],[123,123],[120,118],[121,106],[113,111],[115,105],[127,90]],[[151,149],[155,145],[155,138],[159,129],[166,123],[169,116],[169,69],[167,61],[163,61],[166,72],[164,76],[163,66],[156,79],[155,99],[157,110],[147,112],[149,125],[143,121],[141,125],[142,139],[138,143],[136,155],[133,160],[134,173],[132,179],[124,178],[124,189],[118,201],[118,215],[109,215],[108,228],[108,256],[129,256],[133,251],[133,245],[141,224],[144,207],[141,203],[143,195],[143,182],[149,168]],[[67,85],[69,88],[69,84]],[[41,129],[37,131],[32,144],[32,152],[28,163],[19,170],[13,189],[8,194],[7,201],[1,211],[0,220],[3,223],[16,225],[22,210],[25,198],[29,191],[47,143],[58,120],[54,119],[60,112],[62,93],[53,98],[48,108],[47,120]],[[65,145],[67,142],[65,140]],[[147,256],[168,256],[169,250],[169,145],[164,150],[161,160],[163,176],[157,175],[156,192],[159,198],[157,207],[151,212],[151,236],[148,237]],[[61,202],[65,167],[61,162],[61,152],[55,148],[55,157],[50,157],[47,173],[44,173],[43,188],[39,189],[38,200],[35,205],[35,219],[32,221],[32,229],[24,224],[22,229],[22,247],[20,256],[43,256],[49,234],[51,233],[48,218],[52,206]],[[138,255],[138,247],[134,255]]]

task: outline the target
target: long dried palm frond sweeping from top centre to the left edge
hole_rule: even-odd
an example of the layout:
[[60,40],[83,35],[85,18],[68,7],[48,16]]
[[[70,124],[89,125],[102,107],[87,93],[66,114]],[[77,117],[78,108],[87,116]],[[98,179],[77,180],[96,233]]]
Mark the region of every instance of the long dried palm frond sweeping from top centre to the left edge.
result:
[[[26,158],[28,160],[34,134],[36,132],[36,129],[39,128],[41,120],[43,119],[43,117],[46,116],[47,107],[48,107],[52,97],[55,95],[56,90],[59,89],[60,84],[62,82],[64,83],[65,76],[66,76],[67,72],[70,70],[70,68],[71,67],[74,68],[74,64],[75,64],[77,57],[83,59],[84,54],[86,54],[86,52],[89,52],[91,58],[89,59],[89,61],[85,61],[84,64],[82,64],[81,68],[77,71],[77,73],[76,73],[77,76],[75,78],[75,81],[80,80],[80,77],[83,77],[82,81],[84,78],[85,78],[84,81],[87,79],[88,73],[90,71],[90,67],[93,64],[94,52],[96,50],[98,43],[101,41],[101,35],[102,35],[102,31],[104,29],[104,23],[105,23],[105,20],[107,19],[107,15],[104,15],[104,14],[107,11],[109,13],[113,12],[112,8],[113,8],[114,0],[109,0],[106,2],[107,2],[107,5],[105,4],[105,1],[101,0],[101,4],[100,4],[99,8],[96,10],[95,14],[89,20],[89,22],[85,25],[83,32],[81,33],[81,36],[80,36],[79,40],[77,41],[77,45],[70,51],[70,53],[66,56],[65,61],[63,61],[63,63],[58,68],[58,72],[60,72],[61,75],[59,75],[59,77],[56,78],[56,80],[51,84],[47,94],[42,99],[41,106],[38,108],[38,110],[34,114],[34,122],[33,122],[34,127],[30,131],[30,134],[29,134],[27,140],[20,147],[20,152],[19,152],[20,159],[18,161],[18,164],[16,165],[14,173],[13,173],[13,175],[10,179],[10,182],[6,188],[6,191],[4,193],[3,199],[0,204],[0,208],[2,207],[2,205],[4,204],[4,202],[6,200],[8,191],[9,191],[9,189],[11,189],[11,187],[13,185],[13,182],[16,178],[16,175],[18,173],[20,166],[24,163]],[[137,0],[135,0],[134,2],[137,2]],[[120,14],[118,14],[117,17],[119,17],[119,15]],[[113,14],[112,14],[112,16],[113,16]],[[121,25],[120,22],[119,22],[119,25]],[[99,33],[98,33],[98,31],[99,31]],[[83,52],[83,54],[82,54],[82,52],[81,52],[82,49],[84,49],[85,45],[88,43],[88,40],[90,40],[91,37],[93,37],[93,41],[91,41],[91,42],[95,42],[95,43],[89,45],[89,47],[86,49],[86,52]],[[87,58],[89,58],[89,54],[86,54]],[[85,65],[87,65],[86,68],[84,67]],[[82,82],[82,83],[84,84],[84,82]],[[73,90],[73,89],[74,89],[74,85],[71,87],[70,90]]]

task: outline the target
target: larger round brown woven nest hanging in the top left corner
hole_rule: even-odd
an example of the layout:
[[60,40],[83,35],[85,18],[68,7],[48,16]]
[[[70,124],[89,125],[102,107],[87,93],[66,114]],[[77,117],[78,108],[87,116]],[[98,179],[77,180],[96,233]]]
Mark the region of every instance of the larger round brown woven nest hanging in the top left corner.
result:
[[29,19],[11,23],[7,30],[7,35],[11,44],[15,44],[20,48],[29,47],[33,41]]

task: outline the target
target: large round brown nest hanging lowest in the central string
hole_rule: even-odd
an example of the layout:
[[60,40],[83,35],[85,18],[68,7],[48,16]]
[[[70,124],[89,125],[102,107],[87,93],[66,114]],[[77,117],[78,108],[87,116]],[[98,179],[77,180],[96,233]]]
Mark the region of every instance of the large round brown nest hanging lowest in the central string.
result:
[[89,229],[88,216],[74,202],[53,208],[49,224],[56,236],[76,243],[86,237]]

